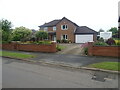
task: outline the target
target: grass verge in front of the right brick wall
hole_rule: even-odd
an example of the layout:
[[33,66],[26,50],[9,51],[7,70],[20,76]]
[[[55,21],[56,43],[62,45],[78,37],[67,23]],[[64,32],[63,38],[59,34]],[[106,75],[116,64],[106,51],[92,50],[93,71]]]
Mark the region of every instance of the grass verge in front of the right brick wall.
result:
[[119,65],[120,62],[101,62],[101,63],[90,64],[88,67],[120,71]]

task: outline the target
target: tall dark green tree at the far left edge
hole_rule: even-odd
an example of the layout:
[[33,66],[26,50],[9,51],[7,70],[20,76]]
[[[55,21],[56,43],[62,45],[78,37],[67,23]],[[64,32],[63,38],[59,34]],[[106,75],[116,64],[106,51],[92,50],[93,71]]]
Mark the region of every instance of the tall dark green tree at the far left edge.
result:
[[0,32],[2,33],[2,41],[10,41],[12,24],[6,19],[0,20]]

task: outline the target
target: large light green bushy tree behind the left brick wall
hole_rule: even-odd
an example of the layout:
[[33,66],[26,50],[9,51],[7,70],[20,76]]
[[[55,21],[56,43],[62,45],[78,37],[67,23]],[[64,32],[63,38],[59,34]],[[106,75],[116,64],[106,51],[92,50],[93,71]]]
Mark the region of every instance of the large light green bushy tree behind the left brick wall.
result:
[[27,41],[30,39],[32,31],[23,26],[17,27],[12,31],[12,40],[13,41]]

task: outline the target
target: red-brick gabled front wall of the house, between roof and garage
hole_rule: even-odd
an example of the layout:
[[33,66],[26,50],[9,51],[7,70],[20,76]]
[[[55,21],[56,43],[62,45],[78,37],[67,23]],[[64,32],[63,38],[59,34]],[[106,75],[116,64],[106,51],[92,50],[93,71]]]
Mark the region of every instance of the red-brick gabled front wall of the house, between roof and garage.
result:
[[[62,30],[61,25],[67,24],[68,25],[68,30]],[[71,40],[72,42],[75,42],[75,35],[74,35],[74,30],[76,26],[69,22],[66,19],[63,19],[61,22],[57,24],[57,30],[56,30],[56,40],[61,40],[61,35],[68,35],[68,40]]]

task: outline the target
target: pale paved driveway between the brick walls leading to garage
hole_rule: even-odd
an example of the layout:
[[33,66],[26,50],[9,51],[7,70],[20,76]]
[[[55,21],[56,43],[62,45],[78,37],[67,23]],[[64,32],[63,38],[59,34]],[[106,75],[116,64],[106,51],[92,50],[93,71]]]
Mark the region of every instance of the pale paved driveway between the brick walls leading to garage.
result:
[[57,52],[57,54],[70,54],[70,55],[83,55],[81,44],[59,44],[65,46],[66,48],[62,51]]

